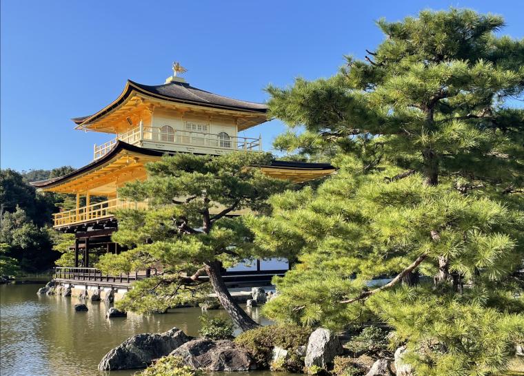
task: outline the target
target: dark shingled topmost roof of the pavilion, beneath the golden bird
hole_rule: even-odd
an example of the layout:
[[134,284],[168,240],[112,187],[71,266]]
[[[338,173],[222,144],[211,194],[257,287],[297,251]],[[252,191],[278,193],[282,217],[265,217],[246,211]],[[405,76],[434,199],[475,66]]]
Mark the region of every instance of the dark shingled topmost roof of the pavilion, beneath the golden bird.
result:
[[108,107],[90,116],[81,116],[79,118],[72,118],[71,120],[74,121],[74,123],[77,125],[90,118],[90,122],[94,121],[99,118],[99,116],[102,116],[103,114],[106,114],[107,112],[110,112],[112,109],[121,105],[121,103],[123,103],[123,101],[128,98],[133,90],[135,92],[152,96],[154,98],[160,98],[179,103],[203,105],[205,107],[223,109],[234,109],[237,111],[259,112],[260,114],[266,114],[268,112],[268,106],[264,105],[263,103],[240,101],[239,99],[213,94],[212,92],[206,92],[205,90],[201,90],[197,87],[192,87],[189,83],[172,81],[163,85],[143,85],[141,83],[128,80],[123,93]]

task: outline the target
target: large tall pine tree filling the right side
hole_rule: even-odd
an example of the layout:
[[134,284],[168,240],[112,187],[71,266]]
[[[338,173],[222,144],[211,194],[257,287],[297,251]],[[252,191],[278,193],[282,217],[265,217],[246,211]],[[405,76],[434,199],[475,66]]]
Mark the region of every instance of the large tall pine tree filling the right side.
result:
[[268,87],[290,126],[277,146],[340,170],[246,218],[259,247],[299,260],[265,313],[384,320],[419,374],[490,375],[524,337],[524,41],[471,10],[377,24],[365,61]]

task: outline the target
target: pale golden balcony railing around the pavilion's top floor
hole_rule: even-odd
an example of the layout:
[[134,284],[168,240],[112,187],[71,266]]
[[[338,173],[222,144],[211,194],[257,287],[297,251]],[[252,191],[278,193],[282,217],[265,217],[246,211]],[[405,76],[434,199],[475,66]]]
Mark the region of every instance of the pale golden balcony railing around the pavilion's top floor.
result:
[[161,143],[167,149],[173,146],[176,150],[176,145],[189,145],[194,147],[203,147],[210,149],[227,150],[247,150],[247,151],[262,151],[261,137],[238,137],[228,136],[228,134],[212,134],[205,132],[186,131],[172,129],[170,132],[165,132],[161,128],[155,127],[140,127],[131,129],[129,132],[119,134],[113,140],[103,143],[102,145],[94,145],[94,159],[105,156],[112,147],[121,140],[124,143],[138,145],[143,141],[152,141],[154,143]]

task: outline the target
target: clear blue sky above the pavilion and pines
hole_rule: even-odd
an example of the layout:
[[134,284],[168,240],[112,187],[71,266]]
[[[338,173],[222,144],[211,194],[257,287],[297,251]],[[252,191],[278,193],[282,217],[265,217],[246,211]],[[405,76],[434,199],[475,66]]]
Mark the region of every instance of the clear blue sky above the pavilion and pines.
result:
[[[81,167],[109,134],[73,129],[126,79],[154,85],[172,61],[196,87],[266,101],[269,83],[330,76],[343,54],[363,57],[383,36],[374,21],[423,8],[473,8],[505,17],[524,36],[523,1],[1,1],[1,167]],[[259,125],[266,150],[283,131]]]

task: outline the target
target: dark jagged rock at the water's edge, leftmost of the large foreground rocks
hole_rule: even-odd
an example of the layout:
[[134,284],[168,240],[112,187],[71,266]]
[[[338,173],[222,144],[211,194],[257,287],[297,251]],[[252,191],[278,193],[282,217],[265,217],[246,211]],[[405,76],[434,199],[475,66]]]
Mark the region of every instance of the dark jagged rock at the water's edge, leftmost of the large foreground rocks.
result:
[[190,340],[192,337],[185,335],[179,328],[172,328],[165,333],[133,335],[105,354],[99,364],[99,370],[145,368],[154,359],[168,355]]

